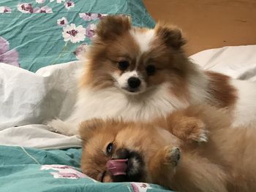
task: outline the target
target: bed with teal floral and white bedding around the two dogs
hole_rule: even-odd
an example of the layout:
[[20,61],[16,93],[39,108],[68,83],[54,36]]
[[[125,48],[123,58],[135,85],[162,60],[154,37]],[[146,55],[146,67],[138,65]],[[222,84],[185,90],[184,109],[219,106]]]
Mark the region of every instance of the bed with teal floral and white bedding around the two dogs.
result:
[[[107,14],[122,14],[130,15],[137,26],[152,27],[154,21],[142,2],[23,4],[20,8],[17,1],[0,3],[0,191],[167,191],[148,183],[99,183],[87,177],[79,169],[80,139],[48,131],[45,124],[56,117],[67,118],[72,111],[78,72],[84,64],[79,52],[91,41],[91,25]],[[69,23],[60,26],[65,18]],[[72,23],[91,26],[83,40],[65,41],[61,33]],[[190,58],[203,69],[255,81],[255,53],[256,45],[248,45],[205,50]]]

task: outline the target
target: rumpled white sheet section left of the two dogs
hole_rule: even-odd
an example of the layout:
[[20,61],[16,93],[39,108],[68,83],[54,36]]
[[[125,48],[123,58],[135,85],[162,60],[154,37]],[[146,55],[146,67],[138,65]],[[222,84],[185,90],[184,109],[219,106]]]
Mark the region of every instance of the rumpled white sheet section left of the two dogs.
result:
[[78,137],[48,131],[46,122],[67,118],[75,104],[83,62],[47,66],[36,73],[0,64],[0,145],[42,149],[80,147]]

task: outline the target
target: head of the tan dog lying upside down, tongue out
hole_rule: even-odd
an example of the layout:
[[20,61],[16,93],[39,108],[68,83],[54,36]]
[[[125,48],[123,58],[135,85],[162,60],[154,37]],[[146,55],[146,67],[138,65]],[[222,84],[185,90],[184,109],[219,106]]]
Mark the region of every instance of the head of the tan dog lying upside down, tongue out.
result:
[[150,125],[86,120],[80,126],[81,169],[102,182],[150,182],[148,162],[162,148],[158,135]]

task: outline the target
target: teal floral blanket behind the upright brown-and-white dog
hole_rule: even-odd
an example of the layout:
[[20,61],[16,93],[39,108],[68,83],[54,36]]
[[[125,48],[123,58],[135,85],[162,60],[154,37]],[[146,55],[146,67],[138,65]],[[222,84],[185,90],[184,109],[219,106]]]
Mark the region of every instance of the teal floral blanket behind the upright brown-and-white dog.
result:
[[109,14],[154,26],[141,0],[1,0],[0,63],[36,72],[75,61],[90,44],[95,24]]

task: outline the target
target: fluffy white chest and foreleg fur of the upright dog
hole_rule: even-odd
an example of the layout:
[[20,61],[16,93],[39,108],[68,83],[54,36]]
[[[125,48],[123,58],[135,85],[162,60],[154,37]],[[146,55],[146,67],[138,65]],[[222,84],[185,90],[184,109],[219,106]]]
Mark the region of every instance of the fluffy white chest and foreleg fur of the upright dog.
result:
[[189,105],[188,102],[172,96],[167,84],[143,94],[127,95],[118,88],[105,88],[99,91],[83,89],[79,93],[72,115],[65,121],[52,120],[50,126],[63,134],[73,135],[78,134],[79,123],[90,118],[150,121]]

